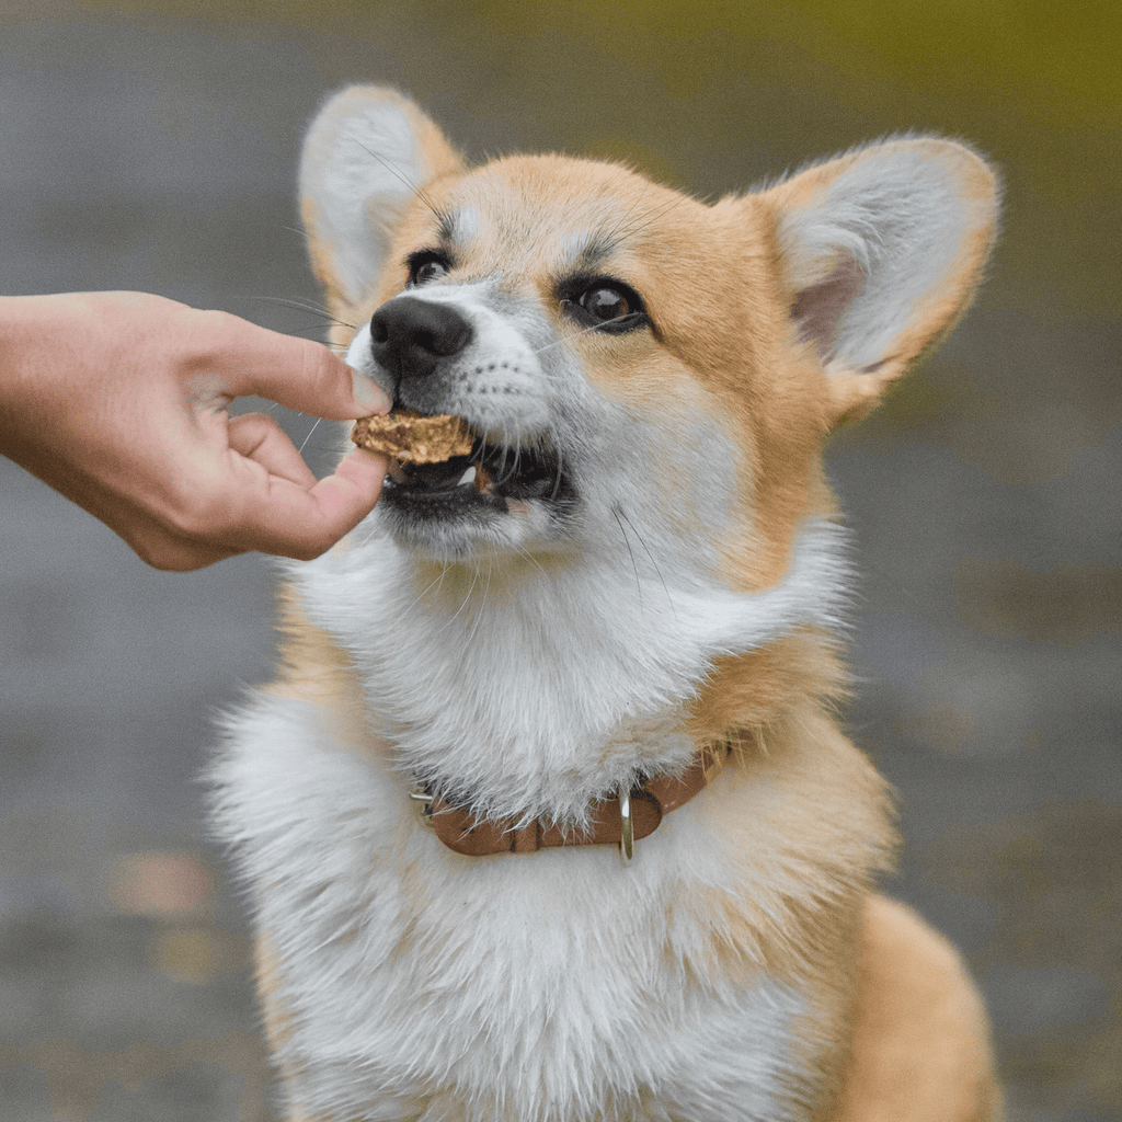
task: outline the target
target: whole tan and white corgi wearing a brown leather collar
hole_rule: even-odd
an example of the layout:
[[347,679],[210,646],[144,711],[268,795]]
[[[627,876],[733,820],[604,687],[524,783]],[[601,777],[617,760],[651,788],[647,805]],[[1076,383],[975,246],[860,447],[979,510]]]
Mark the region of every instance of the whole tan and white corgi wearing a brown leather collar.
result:
[[401,94],[306,138],[332,341],[471,452],[287,568],[213,810],[298,1122],[983,1122],[986,1017],[876,891],[822,466],[969,303],[997,186],[902,137],[699,202],[469,167]]

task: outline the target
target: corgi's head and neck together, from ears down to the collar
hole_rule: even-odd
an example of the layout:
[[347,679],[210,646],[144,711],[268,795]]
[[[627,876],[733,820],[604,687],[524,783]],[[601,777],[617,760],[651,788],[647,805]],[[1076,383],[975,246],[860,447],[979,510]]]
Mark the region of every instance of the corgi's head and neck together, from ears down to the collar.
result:
[[821,445],[969,302],[996,219],[983,160],[896,139],[706,205],[610,163],[469,168],[357,86],[301,178],[353,325],[333,342],[475,434],[397,469],[373,527],[302,579],[414,775],[477,817],[574,822],[844,689]]

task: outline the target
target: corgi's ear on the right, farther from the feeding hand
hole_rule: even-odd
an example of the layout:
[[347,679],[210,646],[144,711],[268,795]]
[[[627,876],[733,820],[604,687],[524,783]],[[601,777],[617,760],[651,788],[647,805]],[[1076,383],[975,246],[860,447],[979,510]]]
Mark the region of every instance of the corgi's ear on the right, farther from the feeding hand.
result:
[[861,416],[969,305],[996,236],[997,180],[960,144],[896,139],[809,167],[762,197],[833,419]]

